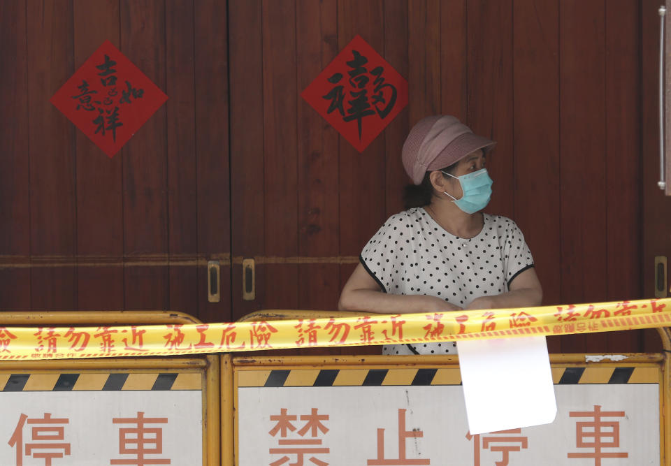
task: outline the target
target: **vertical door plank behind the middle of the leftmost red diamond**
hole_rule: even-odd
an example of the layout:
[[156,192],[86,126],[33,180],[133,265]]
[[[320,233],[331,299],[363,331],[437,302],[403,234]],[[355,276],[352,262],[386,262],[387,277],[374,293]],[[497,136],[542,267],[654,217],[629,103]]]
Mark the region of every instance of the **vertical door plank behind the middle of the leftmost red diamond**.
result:
[[[119,1],[75,0],[75,69],[105,41],[119,47]],[[75,129],[77,152],[77,252],[85,256],[124,254],[122,156],[110,159]],[[122,310],[124,271],[120,267],[78,267],[78,307]]]

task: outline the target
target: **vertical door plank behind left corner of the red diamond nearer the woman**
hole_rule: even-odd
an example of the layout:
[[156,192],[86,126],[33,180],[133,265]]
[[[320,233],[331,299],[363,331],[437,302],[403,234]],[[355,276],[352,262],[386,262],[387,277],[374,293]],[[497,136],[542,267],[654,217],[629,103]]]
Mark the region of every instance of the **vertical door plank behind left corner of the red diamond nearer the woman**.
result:
[[[302,257],[338,256],[339,200],[334,189],[338,132],[300,97],[338,54],[337,13],[335,0],[296,1],[298,255]],[[298,266],[299,309],[337,309],[339,288],[338,264]]]

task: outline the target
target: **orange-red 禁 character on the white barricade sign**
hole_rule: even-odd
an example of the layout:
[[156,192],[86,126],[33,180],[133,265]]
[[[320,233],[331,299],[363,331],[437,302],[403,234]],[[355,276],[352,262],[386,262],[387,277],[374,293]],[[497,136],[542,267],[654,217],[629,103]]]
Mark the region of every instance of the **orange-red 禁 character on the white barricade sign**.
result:
[[[287,408],[281,408],[280,414],[270,416],[270,421],[275,421],[275,425],[268,432],[272,437],[280,434],[277,439],[278,448],[268,449],[270,455],[282,455],[277,460],[270,463],[270,466],[280,466],[291,458],[287,455],[294,456],[296,461],[289,463],[289,465],[302,466],[306,455],[309,455],[310,463],[317,466],[328,466],[329,463],[324,461],[324,455],[329,453],[331,449],[322,446],[324,440],[319,436],[326,435],[329,429],[322,421],[328,421],[328,414],[318,414],[317,408],[312,408],[310,414],[301,415],[301,421],[305,421],[301,429],[297,429],[294,423],[297,423],[298,416],[295,414],[288,414]],[[305,438],[305,434],[309,438]],[[321,458],[317,458],[317,455]]]

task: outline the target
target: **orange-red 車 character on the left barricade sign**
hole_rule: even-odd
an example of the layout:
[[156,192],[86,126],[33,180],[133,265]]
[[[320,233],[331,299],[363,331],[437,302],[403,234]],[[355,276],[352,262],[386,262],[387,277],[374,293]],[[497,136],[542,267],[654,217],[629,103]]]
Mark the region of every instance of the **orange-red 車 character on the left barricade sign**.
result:
[[163,428],[147,427],[147,424],[167,424],[168,418],[145,418],[138,412],[135,418],[113,418],[114,424],[130,424],[134,427],[119,428],[119,454],[133,458],[113,459],[110,465],[169,465],[168,458],[147,458],[147,455],[163,453]]

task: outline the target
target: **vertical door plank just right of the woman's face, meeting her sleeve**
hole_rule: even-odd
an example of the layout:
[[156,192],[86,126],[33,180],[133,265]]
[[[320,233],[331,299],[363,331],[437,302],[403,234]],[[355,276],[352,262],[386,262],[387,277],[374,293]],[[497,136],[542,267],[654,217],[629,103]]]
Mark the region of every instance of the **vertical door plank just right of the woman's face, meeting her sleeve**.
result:
[[[561,304],[558,0],[518,0],[513,15],[515,220],[533,254],[544,304]],[[559,352],[558,338],[548,344]]]

